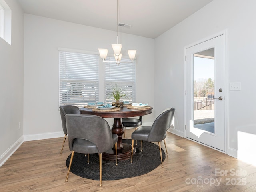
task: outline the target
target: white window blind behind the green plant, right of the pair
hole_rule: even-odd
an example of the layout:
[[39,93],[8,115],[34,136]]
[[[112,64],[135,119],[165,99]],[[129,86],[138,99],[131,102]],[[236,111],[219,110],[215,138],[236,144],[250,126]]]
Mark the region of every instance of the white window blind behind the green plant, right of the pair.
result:
[[[114,61],[114,58],[107,58],[108,61]],[[122,58],[122,61],[130,61]],[[124,89],[126,96],[121,98],[123,101],[135,102],[135,61],[133,63],[105,63],[105,103],[112,103],[114,100],[112,86],[117,84]]]

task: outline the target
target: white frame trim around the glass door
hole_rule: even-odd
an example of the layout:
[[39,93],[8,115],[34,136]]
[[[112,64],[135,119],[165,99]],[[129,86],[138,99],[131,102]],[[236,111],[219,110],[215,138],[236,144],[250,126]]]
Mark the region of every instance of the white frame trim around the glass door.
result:
[[184,50],[183,50],[183,55],[184,55],[184,62],[183,62],[183,68],[184,68],[184,97],[183,97],[183,101],[184,101],[184,120],[183,120],[183,137],[188,139],[188,140],[191,140],[190,138],[187,138],[186,137],[186,128],[185,128],[185,125],[186,125],[186,49],[187,48],[190,48],[192,46],[195,46],[197,44],[200,44],[202,42],[205,42],[205,41],[208,41],[212,38],[215,38],[215,37],[218,37],[220,35],[224,35],[224,90],[226,90],[224,92],[224,99],[225,99],[225,102],[224,102],[224,127],[225,127],[225,138],[224,138],[224,142],[225,142],[225,151],[221,151],[221,150],[218,150],[216,148],[213,148],[211,146],[208,146],[206,144],[203,144],[201,142],[197,142],[195,140],[192,140],[194,142],[197,142],[199,144],[202,144],[204,146],[207,146],[209,148],[212,148],[214,150],[217,150],[217,151],[220,151],[220,152],[223,152],[223,153],[228,153],[228,148],[229,148],[229,145],[228,145],[228,141],[229,141],[229,125],[228,125],[228,117],[229,117],[229,111],[228,111],[228,106],[229,106],[229,86],[228,86],[228,29],[224,30],[224,31],[221,31],[221,32],[218,32],[212,36],[209,36],[209,37],[206,37],[206,38],[203,38],[201,40],[198,40],[197,42],[194,42],[192,44],[189,44],[187,46],[184,47]]

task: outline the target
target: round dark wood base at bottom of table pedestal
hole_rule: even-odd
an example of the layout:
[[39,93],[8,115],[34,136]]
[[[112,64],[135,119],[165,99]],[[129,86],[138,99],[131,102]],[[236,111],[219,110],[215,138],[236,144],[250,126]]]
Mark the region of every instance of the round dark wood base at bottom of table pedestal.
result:
[[[132,156],[132,145],[128,143],[122,143],[123,148],[117,150],[117,159],[126,160]],[[136,153],[136,149],[133,148],[133,155]],[[104,160],[116,160],[115,148],[108,150],[107,152],[102,153],[102,159]]]

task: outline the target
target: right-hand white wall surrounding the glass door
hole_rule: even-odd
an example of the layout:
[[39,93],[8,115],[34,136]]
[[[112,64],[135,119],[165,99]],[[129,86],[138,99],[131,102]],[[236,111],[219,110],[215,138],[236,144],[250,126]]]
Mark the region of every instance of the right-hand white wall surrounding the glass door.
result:
[[[228,153],[232,156],[239,154],[238,149],[252,148],[252,144],[256,146],[255,7],[255,0],[214,0],[156,38],[155,42],[155,114],[166,103],[175,107],[176,132],[183,134],[184,47],[228,30],[227,88],[229,82],[241,82],[242,87],[241,91],[226,90]],[[250,134],[247,137],[250,139],[246,140],[240,132]],[[248,156],[250,153],[247,150]]]

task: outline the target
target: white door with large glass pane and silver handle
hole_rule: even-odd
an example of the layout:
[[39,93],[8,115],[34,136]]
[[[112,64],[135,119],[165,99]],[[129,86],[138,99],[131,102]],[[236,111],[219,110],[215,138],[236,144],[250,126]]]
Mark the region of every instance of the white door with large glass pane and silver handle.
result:
[[186,138],[224,151],[224,35],[187,48],[186,56]]

